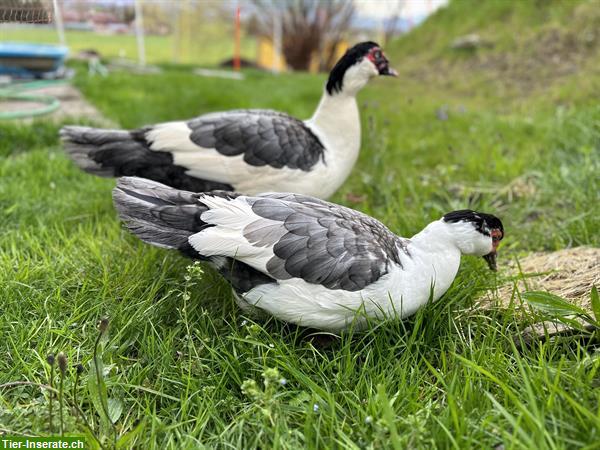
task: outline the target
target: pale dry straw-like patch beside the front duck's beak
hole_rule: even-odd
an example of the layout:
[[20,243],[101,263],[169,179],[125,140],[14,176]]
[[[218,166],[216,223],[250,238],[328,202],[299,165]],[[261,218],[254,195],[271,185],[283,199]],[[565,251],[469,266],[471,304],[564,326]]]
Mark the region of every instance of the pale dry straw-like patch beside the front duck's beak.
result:
[[[594,285],[600,286],[600,248],[575,247],[533,253],[518,263],[511,263],[508,276],[519,278],[516,283],[519,292],[547,291],[591,313],[590,291]],[[497,292],[488,292],[482,297],[481,304],[486,307],[493,303],[508,308],[514,290],[515,285],[507,283]]]

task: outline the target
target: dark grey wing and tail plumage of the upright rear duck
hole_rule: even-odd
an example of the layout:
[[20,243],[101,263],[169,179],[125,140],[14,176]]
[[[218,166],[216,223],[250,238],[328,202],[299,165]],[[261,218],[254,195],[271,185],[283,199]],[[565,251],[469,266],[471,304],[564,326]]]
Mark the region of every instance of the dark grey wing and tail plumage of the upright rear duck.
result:
[[[186,122],[189,139],[198,152],[215,149],[233,157],[244,155],[251,166],[287,167],[309,171],[324,158],[325,149],[298,119],[268,110],[238,110],[200,116]],[[67,153],[86,172],[103,176],[137,176],[193,192],[233,190],[233,186],[188,174],[189,167],[174,163],[178,149],[153,150],[149,133],[67,126],[60,136]],[[202,147],[202,148],[200,148]],[[172,151],[170,151],[172,150]]]

